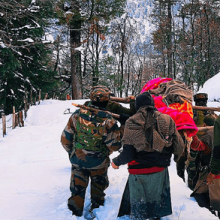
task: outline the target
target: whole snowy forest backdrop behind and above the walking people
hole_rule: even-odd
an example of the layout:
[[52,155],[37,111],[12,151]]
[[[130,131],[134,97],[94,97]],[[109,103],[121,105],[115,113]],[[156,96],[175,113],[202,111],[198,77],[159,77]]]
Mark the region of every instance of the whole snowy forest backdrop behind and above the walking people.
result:
[[219,7],[214,0],[1,0],[0,112],[23,109],[39,92],[88,98],[97,84],[118,97],[137,95],[155,77],[196,92],[220,69]]

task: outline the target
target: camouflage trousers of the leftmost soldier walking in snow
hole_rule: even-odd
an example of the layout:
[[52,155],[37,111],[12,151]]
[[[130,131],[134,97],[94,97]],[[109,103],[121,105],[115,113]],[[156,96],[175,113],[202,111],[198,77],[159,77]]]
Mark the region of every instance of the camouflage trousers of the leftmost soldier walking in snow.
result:
[[68,207],[73,215],[82,216],[86,188],[91,180],[91,208],[98,208],[104,205],[104,190],[109,186],[108,167],[102,169],[82,169],[72,165],[70,191],[71,197],[68,199]]

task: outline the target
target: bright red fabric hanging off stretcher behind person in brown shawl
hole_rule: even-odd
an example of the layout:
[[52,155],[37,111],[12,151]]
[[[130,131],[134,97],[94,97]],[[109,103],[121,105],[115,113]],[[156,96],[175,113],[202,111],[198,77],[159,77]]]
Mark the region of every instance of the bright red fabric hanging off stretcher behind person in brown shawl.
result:
[[188,137],[194,136],[198,128],[187,112],[179,112],[169,107],[158,108],[161,113],[169,115],[175,122],[177,130],[185,130]]

